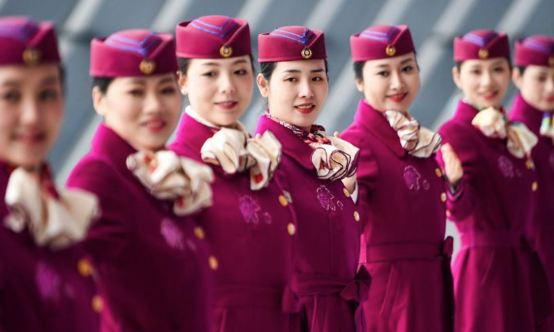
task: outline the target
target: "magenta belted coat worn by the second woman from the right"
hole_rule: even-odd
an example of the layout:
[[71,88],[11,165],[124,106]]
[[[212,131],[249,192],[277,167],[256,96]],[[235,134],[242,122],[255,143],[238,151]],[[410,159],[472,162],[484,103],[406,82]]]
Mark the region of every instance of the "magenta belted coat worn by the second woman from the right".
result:
[[530,160],[510,154],[506,140],[473,127],[477,113],[461,101],[439,130],[464,172],[447,201],[462,243],[452,269],[455,331],[536,331],[549,311],[549,300],[538,297],[548,295],[544,270],[526,241],[537,174]]

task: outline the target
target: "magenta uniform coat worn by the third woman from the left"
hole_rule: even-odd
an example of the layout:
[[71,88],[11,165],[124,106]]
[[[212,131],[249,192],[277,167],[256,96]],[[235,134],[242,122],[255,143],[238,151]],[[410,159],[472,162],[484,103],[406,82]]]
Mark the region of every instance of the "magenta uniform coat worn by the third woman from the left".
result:
[[[202,162],[200,149],[216,131],[184,113],[170,149]],[[254,191],[248,171],[213,170],[213,206],[197,217],[217,259],[213,331],[298,331],[287,287],[294,219],[283,188],[272,180]]]

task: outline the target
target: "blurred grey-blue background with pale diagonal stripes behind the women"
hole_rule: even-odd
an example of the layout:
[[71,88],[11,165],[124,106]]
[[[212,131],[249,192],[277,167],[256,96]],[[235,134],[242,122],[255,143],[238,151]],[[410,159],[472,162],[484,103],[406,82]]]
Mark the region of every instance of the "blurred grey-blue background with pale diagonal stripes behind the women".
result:
[[[102,120],[93,111],[89,70],[91,38],[126,28],[174,33],[179,21],[202,15],[227,15],[249,21],[254,58],[258,33],[288,25],[325,31],[330,94],[318,122],[329,133],[346,128],[361,94],[355,89],[349,37],[376,24],[410,27],[421,70],[422,89],[411,113],[437,129],[460,98],[452,82],[452,39],[469,30],[490,28],[515,39],[554,35],[553,0],[0,0],[0,15],[28,15],[55,21],[66,67],[66,117],[50,154],[57,183],[89,150]],[[510,106],[515,89],[506,96]],[[253,129],[264,103],[254,91],[242,121]],[[449,234],[455,235],[449,223]],[[458,241],[456,241],[456,248]]]

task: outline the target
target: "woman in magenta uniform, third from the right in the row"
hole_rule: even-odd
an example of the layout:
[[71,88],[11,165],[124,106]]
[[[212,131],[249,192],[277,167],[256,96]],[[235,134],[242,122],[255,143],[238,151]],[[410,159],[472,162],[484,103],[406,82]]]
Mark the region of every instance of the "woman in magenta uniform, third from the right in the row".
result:
[[452,238],[445,239],[440,136],[409,107],[420,90],[407,26],[372,26],[350,37],[364,94],[342,137],[361,147],[357,180],[364,235],[360,262],[373,284],[364,331],[452,329]]

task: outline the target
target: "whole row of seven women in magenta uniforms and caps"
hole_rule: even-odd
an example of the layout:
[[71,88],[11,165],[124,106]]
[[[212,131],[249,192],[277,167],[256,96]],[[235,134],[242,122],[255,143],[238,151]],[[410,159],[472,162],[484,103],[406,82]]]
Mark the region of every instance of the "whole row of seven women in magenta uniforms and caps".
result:
[[[53,25],[0,19],[2,331],[554,331],[553,38],[517,41],[512,68],[505,34],[456,37],[465,97],[434,133],[409,113],[409,28],[372,26],[350,37],[363,99],[334,136],[315,124],[323,32],[262,33],[257,75],[242,19],[175,39],[92,40],[104,121],[58,190]],[[267,110],[250,135],[254,82]]]

